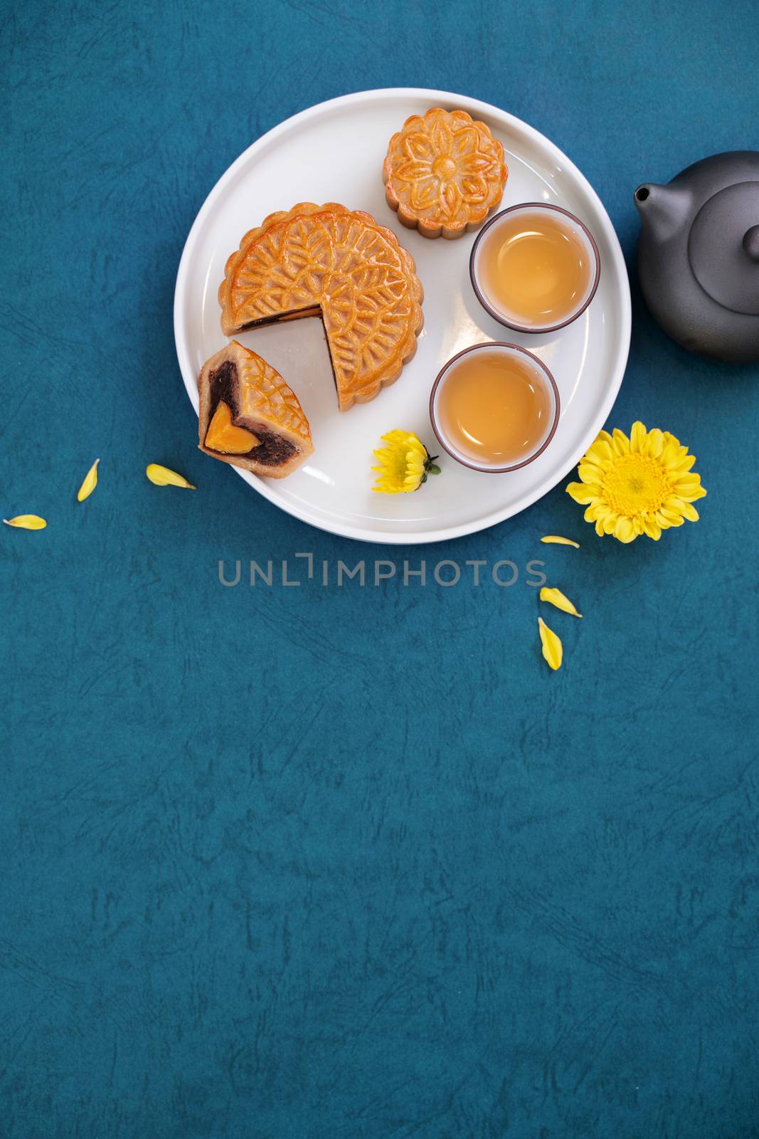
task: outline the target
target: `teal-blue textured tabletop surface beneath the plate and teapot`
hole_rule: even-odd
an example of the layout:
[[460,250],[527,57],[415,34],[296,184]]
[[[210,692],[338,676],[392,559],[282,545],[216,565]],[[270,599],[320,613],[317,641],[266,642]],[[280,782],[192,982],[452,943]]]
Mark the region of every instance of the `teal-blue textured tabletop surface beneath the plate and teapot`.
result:
[[[172,334],[228,164],[371,87],[533,123],[632,263],[640,181],[759,147],[758,33],[753,0],[5,7],[0,505],[49,526],[0,527],[3,1137],[759,1134],[759,369],[634,288],[611,424],[692,446],[702,521],[621,547],[558,487],[388,550],[204,458]],[[523,581],[217,582],[298,550],[544,557],[587,616],[554,675]]]

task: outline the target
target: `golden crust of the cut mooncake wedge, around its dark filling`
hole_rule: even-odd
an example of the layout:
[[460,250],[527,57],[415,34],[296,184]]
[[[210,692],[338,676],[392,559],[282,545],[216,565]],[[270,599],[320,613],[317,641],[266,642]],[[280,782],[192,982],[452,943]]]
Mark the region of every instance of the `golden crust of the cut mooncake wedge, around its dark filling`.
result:
[[[267,466],[248,456],[223,454],[205,445],[214,410],[211,377],[226,361],[237,369],[231,392],[232,421],[237,427],[245,427],[258,436],[262,435],[262,427],[267,428],[290,443],[296,451],[283,462]],[[238,341],[230,341],[221,352],[206,360],[198,378],[198,446],[212,458],[230,462],[234,467],[244,467],[266,478],[283,478],[313,453],[311,428],[297,395],[275,368]]]

